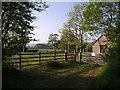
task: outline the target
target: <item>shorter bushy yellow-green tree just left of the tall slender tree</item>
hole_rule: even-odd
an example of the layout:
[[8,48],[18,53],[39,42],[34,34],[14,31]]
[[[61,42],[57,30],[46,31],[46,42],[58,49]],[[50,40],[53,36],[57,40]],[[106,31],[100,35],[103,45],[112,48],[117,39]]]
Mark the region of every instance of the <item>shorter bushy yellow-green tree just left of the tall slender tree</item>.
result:
[[65,23],[59,32],[61,33],[59,48],[67,50],[68,53],[73,52],[77,38],[74,35],[74,31],[70,29],[69,22]]

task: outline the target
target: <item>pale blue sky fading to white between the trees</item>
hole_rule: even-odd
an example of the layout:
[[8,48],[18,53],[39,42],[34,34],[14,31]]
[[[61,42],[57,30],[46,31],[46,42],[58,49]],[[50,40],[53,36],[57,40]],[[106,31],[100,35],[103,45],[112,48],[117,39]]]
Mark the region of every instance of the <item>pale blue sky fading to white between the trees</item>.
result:
[[59,34],[59,29],[67,22],[67,14],[73,10],[77,2],[47,2],[49,8],[46,11],[34,12],[37,19],[31,24],[35,26],[32,36],[39,41],[31,41],[30,43],[47,43],[50,34]]

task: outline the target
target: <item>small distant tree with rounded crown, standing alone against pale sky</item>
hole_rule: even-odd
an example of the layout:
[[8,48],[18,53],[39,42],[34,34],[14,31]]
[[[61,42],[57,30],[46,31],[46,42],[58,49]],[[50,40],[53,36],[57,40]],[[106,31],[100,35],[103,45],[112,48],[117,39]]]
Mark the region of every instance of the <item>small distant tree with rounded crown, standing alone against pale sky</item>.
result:
[[57,47],[58,34],[50,34],[48,38],[48,44],[50,44],[54,49]]

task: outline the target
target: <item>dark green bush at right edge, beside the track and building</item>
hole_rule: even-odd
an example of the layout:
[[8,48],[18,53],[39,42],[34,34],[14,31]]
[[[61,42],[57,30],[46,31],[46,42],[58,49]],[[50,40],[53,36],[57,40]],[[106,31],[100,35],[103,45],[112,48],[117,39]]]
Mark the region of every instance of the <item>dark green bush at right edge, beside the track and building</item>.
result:
[[120,88],[120,47],[114,46],[109,49],[104,57],[107,65],[100,78],[98,78],[98,87],[100,88]]

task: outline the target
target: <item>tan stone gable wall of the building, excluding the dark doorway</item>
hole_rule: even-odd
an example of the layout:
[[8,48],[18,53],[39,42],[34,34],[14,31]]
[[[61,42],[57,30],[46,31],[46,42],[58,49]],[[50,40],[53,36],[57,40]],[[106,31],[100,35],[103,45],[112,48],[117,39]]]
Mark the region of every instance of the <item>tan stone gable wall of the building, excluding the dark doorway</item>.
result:
[[99,40],[97,40],[92,46],[93,53],[100,54],[100,45],[106,45],[106,36],[102,36]]

